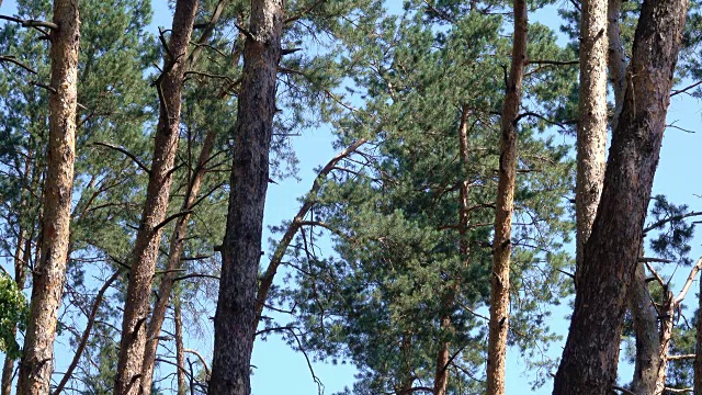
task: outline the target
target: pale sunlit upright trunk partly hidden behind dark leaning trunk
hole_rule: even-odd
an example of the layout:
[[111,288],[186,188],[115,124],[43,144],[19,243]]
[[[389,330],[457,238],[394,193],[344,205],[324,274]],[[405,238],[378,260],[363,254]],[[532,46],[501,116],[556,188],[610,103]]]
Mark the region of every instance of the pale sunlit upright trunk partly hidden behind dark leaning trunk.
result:
[[575,198],[577,263],[582,260],[582,247],[590,237],[607,161],[607,0],[584,0],[580,13],[580,116]]

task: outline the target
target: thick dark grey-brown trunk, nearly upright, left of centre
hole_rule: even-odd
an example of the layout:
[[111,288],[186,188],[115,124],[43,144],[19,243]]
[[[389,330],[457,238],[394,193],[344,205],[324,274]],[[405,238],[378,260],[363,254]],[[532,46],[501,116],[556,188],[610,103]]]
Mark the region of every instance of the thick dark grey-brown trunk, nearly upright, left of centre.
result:
[[256,334],[257,278],[282,29],[282,0],[251,1],[229,213],[222,249],[211,395],[251,393],[249,375]]

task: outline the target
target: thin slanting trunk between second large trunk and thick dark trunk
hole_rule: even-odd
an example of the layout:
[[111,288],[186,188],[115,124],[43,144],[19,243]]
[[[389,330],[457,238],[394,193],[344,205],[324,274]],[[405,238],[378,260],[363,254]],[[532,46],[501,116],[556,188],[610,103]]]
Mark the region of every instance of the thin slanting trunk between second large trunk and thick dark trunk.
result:
[[[200,193],[200,185],[202,179],[205,176],[205,165],[212,154],[212,147],[214,145],[215,133],[213,131],[207,132],[205,140],[200,151],[200,158],[197,159],[197,167],[192,174],[192,179],[189,181],[188,192],[185,193],[185,200],[183,201],[181,212],[188,212],[192,208],[193,204],[197,200]],[[168,250],[168,264],[166,267],[166,274],[161,279],[161,283],[158,287],[158,300],[154,312],[151,313],[151,319],[146,331],[146,345],[144,348],[144,362],[141,365],[141,385],[145,388],[151,387],[154,380],[154,365],[156,363],[156,351],[158,350],[159,335],[161,332],[161,326],[166,319],[166,311],[170,302],[171,291],[173,290],[173,283],[178,275],[178,269],[180,269],[181,257],[183,255],[183,241],[185,240],[185,234],[188,232],[188,221],[190,214],[185,214],[177,219],[176,228],[171,235],[170,247]]]

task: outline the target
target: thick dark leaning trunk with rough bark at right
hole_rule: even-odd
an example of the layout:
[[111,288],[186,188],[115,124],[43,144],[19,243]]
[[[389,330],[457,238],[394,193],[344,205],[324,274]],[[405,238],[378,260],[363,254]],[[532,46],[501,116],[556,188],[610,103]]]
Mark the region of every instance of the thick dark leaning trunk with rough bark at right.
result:
[[609,394],[665,131],[687,0],[644,1],[554,394]]

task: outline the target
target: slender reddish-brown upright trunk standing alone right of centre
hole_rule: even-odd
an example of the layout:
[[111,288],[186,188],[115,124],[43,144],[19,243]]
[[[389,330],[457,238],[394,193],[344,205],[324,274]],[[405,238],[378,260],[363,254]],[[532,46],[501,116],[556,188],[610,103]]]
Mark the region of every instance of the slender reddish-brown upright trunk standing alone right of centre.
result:
[[509,266],[512,252],[512,214],[517,182],[517,119],[521,105],[528,29],[526,1],[514,0],[512,64],[502,105],[500,168],[492,241],[492,287],[487,361],[487,392],[491,395],[505,394],[505,362],[509,329]]

